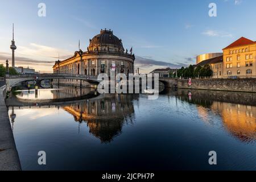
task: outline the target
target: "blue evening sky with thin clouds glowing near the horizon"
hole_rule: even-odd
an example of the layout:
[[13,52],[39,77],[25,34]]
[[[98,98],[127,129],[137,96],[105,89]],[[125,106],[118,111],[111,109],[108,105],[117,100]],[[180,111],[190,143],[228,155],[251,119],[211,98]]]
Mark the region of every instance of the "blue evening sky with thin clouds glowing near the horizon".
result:
[[[45,3],[46,16],[38,16]],[[209,16],[216,3],[217,16]],[[52,72],[101,28],[111,28],[124,48],[133,47],[135,67],[155,68],[195,64],[202,53],[222,52],[241,36],[256,40],[255,0],[1,0],[0,64],[11,60],[12,23],[16,66]]]

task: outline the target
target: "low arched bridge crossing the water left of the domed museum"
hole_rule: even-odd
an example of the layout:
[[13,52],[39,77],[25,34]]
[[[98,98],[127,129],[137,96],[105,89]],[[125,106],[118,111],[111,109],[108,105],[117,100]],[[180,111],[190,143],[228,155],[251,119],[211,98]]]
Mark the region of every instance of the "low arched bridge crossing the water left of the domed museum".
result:
[[10,91],[13,86],[23,81],[31,80],[53,80],[53,79],[71,79],[87,81],[91,84],[98,84],[96,76],[90,75],[72,75],[63,73],[44,73],[44,74],[26,74],[26,75],[6,75],[6,91]]

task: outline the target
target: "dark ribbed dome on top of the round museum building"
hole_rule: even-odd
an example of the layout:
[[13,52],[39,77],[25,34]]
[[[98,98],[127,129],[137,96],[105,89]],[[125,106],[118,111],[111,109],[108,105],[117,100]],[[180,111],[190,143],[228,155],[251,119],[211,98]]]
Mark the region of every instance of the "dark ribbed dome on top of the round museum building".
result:
[[96,48],[110,49],[111,51],[124,51],[122,40],[113,34],[112,30],[101,30],[100,34],[90,39],[89,49],[95,51]]

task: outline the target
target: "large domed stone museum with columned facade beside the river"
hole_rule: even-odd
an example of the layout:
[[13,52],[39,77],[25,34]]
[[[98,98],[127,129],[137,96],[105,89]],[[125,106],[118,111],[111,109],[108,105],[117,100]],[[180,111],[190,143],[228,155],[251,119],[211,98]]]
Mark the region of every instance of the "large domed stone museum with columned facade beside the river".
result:
[[[106,73],[109,76],[118,73],[134,73],[133,49],[123,48],[122,39],[113,34],[112,30],[101,30],[100,34],[89,40],[87,51],[75,52],[75,55],[63,61],[56,61],[53,73],[98,76]],[[72,85],[76,80],[62,79],[60,83]]]

